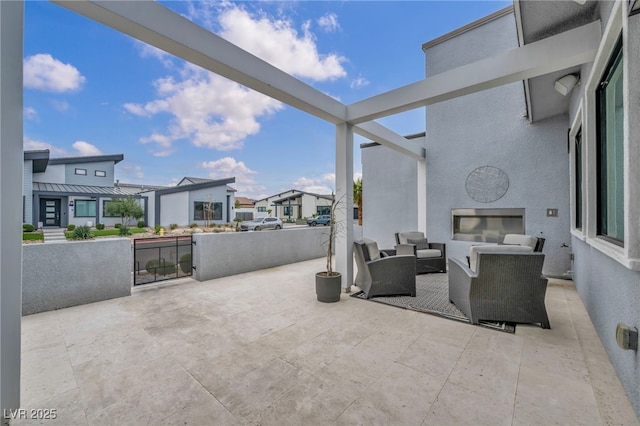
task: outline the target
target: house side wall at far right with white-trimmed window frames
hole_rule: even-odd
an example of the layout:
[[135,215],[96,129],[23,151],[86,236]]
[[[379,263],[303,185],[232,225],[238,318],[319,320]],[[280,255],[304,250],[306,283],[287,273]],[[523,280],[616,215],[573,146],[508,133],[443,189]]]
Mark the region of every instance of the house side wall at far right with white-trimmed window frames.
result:
[[[618,347],[618,323],[640,328],[640,14],[628,17],[626,2],[600,2],[603,39],[596,61],[582,68],[581,84],[574,89],[571,133],[583,130],[583,226],[572,230],[573,280],[589,317],[609,355],[611,364],[640,417],[640,352]],[[620,27],[622,29],[620,29]],[[597,115],[594,90],[599,85],[603,65],[612,45],[623,36],[624,97],[624,247],[607,244],[598,237],[596,216],[597,173],[595,146]],[[575,147],[572,146],[572,149]],[[572,174],[572,185],[575,185]],[[575,209],[575,207],[574,207]],[[575,210],[574,210],[575,212]],[[552,324],[553,326],[553,324]]]

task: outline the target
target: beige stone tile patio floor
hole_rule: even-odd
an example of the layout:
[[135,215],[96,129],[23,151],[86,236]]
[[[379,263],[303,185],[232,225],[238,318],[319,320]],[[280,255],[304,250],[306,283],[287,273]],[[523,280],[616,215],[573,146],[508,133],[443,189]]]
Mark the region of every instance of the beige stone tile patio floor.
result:
[[[23,318],[53,425],[638,425],[570,281],[516,334],[315,300],[323,259]],[[12,424],[34,424],[16,420]]]

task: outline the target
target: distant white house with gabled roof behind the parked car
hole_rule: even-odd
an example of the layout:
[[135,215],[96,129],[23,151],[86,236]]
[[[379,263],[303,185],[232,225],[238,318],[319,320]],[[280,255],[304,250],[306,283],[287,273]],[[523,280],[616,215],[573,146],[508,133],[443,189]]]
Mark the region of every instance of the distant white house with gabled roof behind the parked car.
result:
[[295,220],[320,214],[329,214],[331,195],[312,194],[291,189],[255,202],[258,217],[272,216],[283,220]]

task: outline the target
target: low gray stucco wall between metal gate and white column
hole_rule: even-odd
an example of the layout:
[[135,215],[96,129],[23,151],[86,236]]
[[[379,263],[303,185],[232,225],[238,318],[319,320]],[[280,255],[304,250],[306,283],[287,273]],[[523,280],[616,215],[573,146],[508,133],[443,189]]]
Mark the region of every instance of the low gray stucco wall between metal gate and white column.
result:
[[326,253],[326,234],[326,227],[194,234],[193,278],[205,281],[317,259]]

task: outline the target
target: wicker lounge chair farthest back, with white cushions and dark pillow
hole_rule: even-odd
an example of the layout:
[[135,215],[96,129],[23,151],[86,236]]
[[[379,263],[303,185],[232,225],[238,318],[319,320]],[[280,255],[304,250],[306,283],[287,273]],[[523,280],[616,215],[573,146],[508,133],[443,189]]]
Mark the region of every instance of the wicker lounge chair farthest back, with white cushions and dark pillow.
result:
[[416,257],[416,273],[447,272],[447,250],[444,243],[430,243],[420,231],[398,232],[396,253]]

